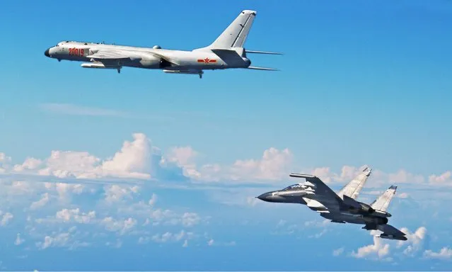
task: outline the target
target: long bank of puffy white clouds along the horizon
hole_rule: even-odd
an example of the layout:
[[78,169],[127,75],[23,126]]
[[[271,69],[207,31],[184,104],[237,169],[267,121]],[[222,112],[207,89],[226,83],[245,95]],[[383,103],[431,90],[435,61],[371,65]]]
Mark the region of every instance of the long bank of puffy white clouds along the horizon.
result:
[[[293,154],[289,149],[276,149],[270,147],[265,150],[260,159],[238,159],[231,165],[215,163],[197,165],[199,153],[192,147],[173,147],[168,153],[151,145],[151,141],[142,133],[134,133],[132,141],[124,141],[120,151],[112,157],[100,159],[88,152],[54,150],[47,159],[28,158],[23,164],[17,164],[10,170],[8,164],[11,158],[0,153],[0,171],[3,174],[39,174],[61,179],[168,179],[190,180],[192,182],[222,181],[236,182],[265,182],[274,183],[287,178],[289,171],[293,171],[291,162]],[[330,183],[344,183],[354,178],[360,168],[355,166],[342,166],[339,173],[333,173],[330,167],[318,167],[305,169],[303,172],[311,172],[320,176],[323,181]],[[378,169],[373,170],[372,183],[369,186],[375,188],[388,183],[418,183],[451,185],[452,172],[444,174],[431,174],[424,177],[419,174],[411,174],[400,169],[395,173],[385,173]],[[405,195],[402,195],[402,197]],[[250,199],[250,205],[255,200]]]

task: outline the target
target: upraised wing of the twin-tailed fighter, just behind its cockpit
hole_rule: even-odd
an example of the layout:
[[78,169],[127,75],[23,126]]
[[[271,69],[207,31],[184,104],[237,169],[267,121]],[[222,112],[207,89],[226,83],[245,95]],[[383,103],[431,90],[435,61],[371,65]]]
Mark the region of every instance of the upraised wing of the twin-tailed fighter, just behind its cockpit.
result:
[[303,185],[309,186],[311,188],[311,192],[313,193],[306,196],[306,198],[308,199],[306,200],[307,203],[310,202],[309,200],[315,200],[315,203],[313,203],[313,205],[319,205],[320,203],[330,211],[338,211],[340,209],[340,206],[343,203],[342,199],[337,196],[335,191],[332,191],[331,188],[323,183],[323,181],[321,181],[317,176],[295,173],[292,173],[289,176],[306,179],[306,183],[303,183]]

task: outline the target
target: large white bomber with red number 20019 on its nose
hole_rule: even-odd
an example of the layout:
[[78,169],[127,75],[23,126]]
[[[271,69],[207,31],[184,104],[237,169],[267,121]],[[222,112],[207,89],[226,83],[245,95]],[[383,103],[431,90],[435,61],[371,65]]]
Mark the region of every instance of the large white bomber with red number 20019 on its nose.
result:
[[166,50],[158,45],[151,48],[67,40],[45,50],[44,54],[58,61],[85,62],[81,64],[83,68],[117,69],[118,73],[122,67],[138,67],[163,69],[163,72],[173,74],[198,74],[202,78],[204,70],[277,70],[250,66],[251,61],[246,56],[247,53],[282,55],[278,52],[245,50],[243,47],[256,13],[257,11],[241,11],[211,45],[192,51]]

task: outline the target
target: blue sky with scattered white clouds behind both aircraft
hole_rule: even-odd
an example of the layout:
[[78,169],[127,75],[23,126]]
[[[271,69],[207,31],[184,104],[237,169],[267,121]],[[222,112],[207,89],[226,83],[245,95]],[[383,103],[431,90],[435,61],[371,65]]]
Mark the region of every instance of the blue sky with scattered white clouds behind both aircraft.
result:
[[[253,65],[280,72],[199,80],[44,56],[61,40],[192,50],[243,9],[257,11],[245,47],[284,52]],[[0,269],[449,268],[451,13],[448,1],[1,3]],[[253,198],[295,183],[290,171],[337,189],[363,164],[376,169],[363,200],[399,185],[391,222],[409,242]]]

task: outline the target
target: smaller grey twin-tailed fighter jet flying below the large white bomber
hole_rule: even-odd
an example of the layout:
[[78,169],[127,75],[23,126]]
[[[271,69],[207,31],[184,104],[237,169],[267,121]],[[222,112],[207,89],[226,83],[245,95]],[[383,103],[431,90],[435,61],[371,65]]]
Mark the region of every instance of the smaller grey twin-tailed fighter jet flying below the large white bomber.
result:
[[306,181],[280,191],[263,193],[257,198],[273,203],[300,203],[319,212],[320,216],[331,220],[331,222],[361,224],[364,225],[362,229],[380,230],[382,233],[376,235],[376,237],[407,240],[405,233],[388,225],[388,217],[391,217],[391,215],[386,210],[395,195],[397,186],[390,186],[371,205],[356,200],[371,171],[372,169],[366,166],[356,178],[347,183],[338,193],[332,191],[317,176],[292,173],[289,176],[304,178]]

